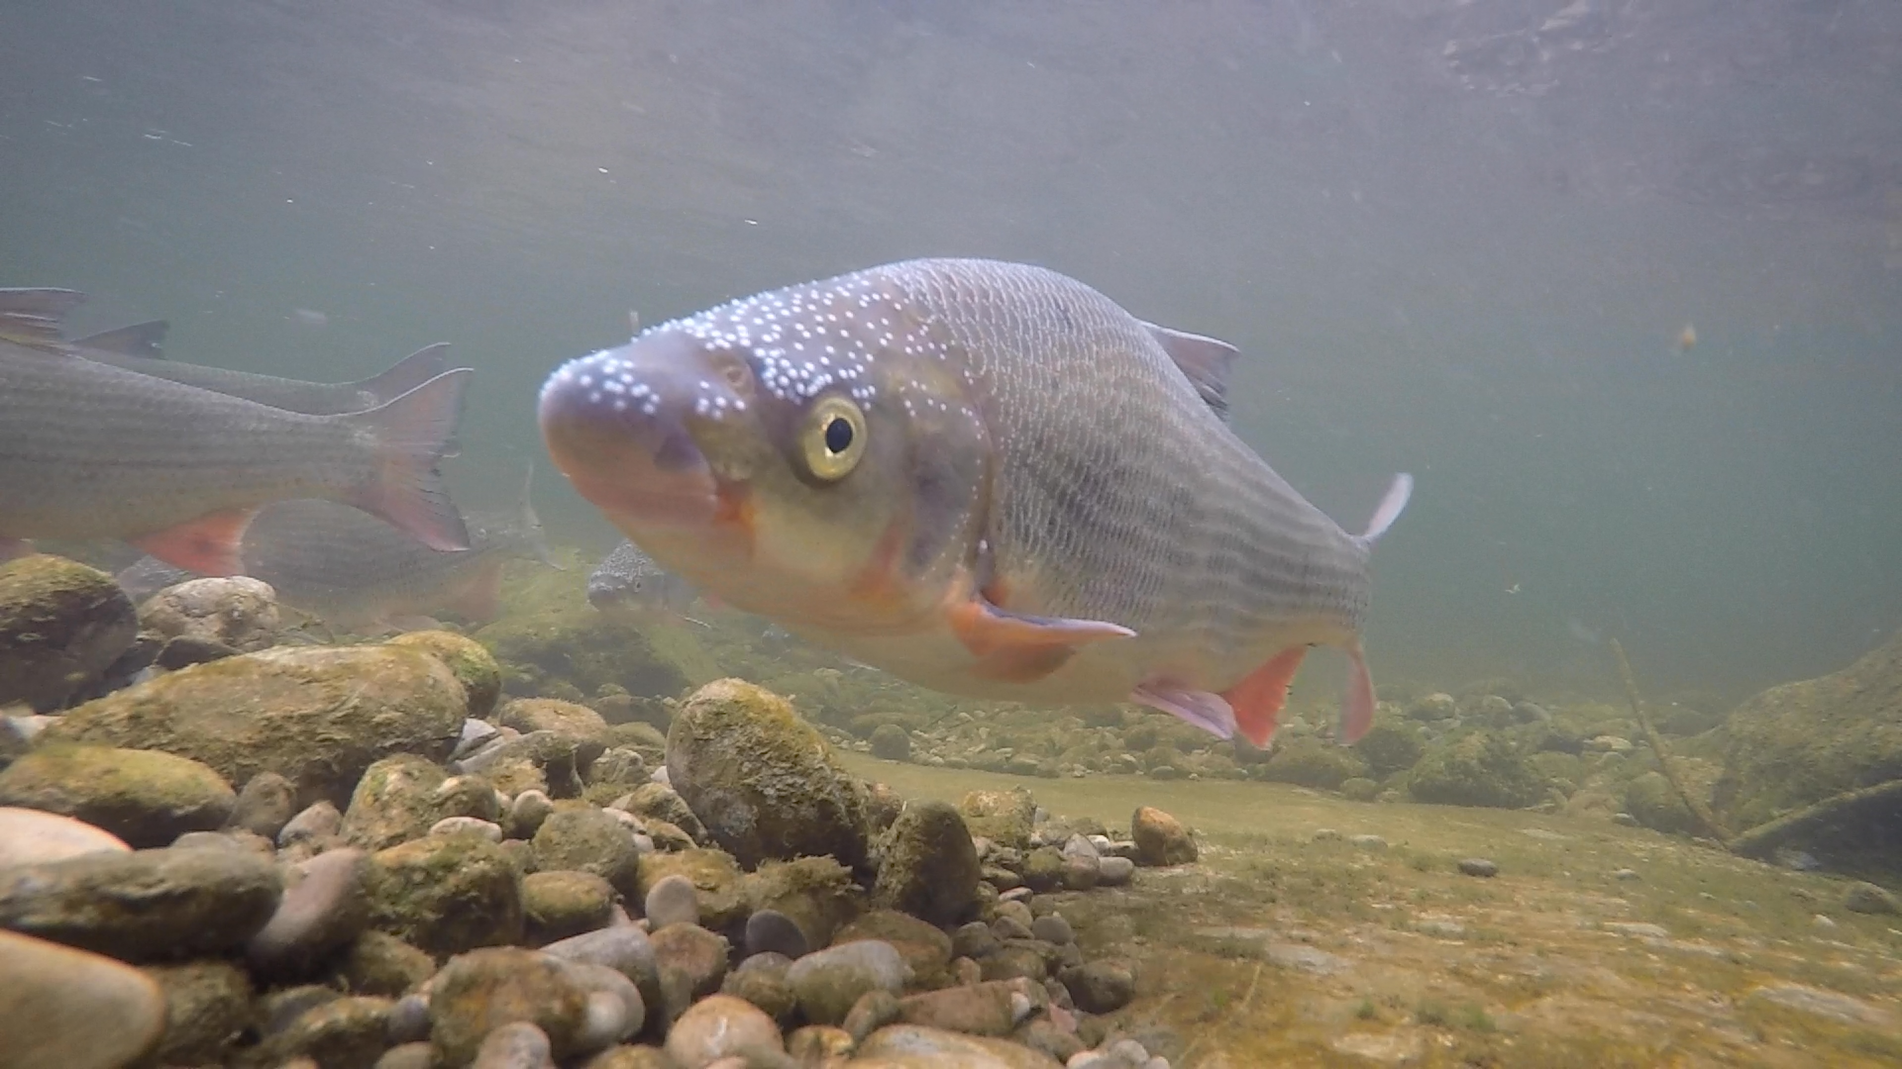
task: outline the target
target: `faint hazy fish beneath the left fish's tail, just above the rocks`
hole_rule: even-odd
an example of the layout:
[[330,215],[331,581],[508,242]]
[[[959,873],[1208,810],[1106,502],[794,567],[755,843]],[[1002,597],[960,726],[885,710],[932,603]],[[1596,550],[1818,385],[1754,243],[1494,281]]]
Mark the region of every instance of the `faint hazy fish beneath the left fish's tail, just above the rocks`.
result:
[[[266,504],[245,529],[243,574],[278,599],[348,632],[434,628],[436,612],[485,624],[498,616],[502,567],[515,559],[561,565],[523,483],[514,515],[472,515],[470,548],[439,552],[356,508],[329,500]],[[118,573],[135,601],[196,578],[145,557]]]

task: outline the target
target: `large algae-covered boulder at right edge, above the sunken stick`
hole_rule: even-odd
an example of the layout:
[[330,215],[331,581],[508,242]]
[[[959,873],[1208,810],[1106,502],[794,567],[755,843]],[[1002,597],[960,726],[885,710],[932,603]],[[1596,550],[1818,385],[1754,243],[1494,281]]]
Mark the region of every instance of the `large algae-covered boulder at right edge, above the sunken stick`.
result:
[[1725,736],[1714,801],[1733,829],[1902,780],[1902,632],[1841,671],[1750,698]]

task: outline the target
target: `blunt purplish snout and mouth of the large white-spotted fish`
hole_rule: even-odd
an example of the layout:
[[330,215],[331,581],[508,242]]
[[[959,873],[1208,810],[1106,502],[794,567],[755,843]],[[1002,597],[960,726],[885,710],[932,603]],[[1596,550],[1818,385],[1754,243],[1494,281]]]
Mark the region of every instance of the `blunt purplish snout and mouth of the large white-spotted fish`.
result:
[[719,479],[694,443],[668,384],[635,379],[626,350],[561,365],[542,386],[536,418],[555,468],[609,519],[698,527],[721,506]]

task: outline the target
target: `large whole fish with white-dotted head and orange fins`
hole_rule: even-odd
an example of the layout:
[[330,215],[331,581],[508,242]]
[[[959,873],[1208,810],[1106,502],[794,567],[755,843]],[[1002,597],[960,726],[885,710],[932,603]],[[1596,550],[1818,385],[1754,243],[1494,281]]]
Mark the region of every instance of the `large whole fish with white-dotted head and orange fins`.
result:
[[1331,645],[1352,742],[1371,550],[1413,479],[1343,531],[1225,422],[1236,356],[1040,266],[926,259],[654,325],[561,363],[536,415],[660,567],[816,645],[1257,746]]

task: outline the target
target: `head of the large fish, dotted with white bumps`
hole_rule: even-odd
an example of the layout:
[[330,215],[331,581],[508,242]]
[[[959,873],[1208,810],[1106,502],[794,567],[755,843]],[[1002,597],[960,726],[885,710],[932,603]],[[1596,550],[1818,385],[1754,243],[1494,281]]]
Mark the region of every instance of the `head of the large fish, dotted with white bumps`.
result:
[[902,632],[974,555],[991,453],[962,350],[854,278],[573,360],[540,426],[574,489],[702,593],[795,628]]

